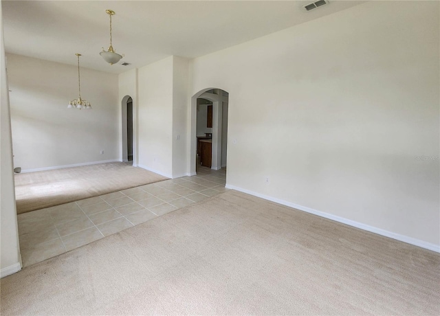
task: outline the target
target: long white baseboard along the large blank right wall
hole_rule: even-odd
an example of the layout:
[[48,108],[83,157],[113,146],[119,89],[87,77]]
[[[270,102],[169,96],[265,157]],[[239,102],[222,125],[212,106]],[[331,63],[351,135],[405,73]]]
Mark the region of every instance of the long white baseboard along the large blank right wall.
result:
[[417,238],[412,238],[412,237],[409,237],[409,236],[405,236],[405,235],[401,235],[401,234],[396,234],[396,233],[393,233],[393,232],[388,232],[387,230],[382,229],[382,228],[377,228],[377,227],[374,227],[374,226],[366,225],[364,223],[359,223],[359,222],[356,222],[356,221],[351,221],[348,218],[344,218],[344,217],[336,216],[336,215],[329,214],[329,213],[326,213],[326,212],[321,212],[321,211],[318,211],[318,210],[314,210],[314,209],[312,209],[310,207],[306,207],[306,206],[303,206],[303,205],[298,205],[298,204],[295,204],[295,203],[287,202],[287,201],[284,201],[284,200],[281,200],[281,199],[276,199],[276,198],[274,198],[272,196],[267,196],[267,195],[264,195],[264,194],[260,194],[260,193],[257,193],[257,192],[253,192],[253,191],[250,191],[250,190],[239,188],[239,187],[236,187],[234,185],[226,184],[225,188],[236,190],[236,191],[240,191],[240,192],[247,193],[247,194],[254,195],[254,196],[258,196],[261,199],[265,199],[265,200],[272,201],[272,202],[275,202],[275,203],[278,203],[278,204],[281,204],[281,205],[292,207],[292,208],[294,208],[296,210],[300,210],[300,211],[307,212],[307,213],[310,213],[310,214],[315,214],[315,215],[318,215],[318,216],[321,216],[321,217],[324,217],[324,218],[331,219],[332,221],[336,221],[336,222],[339,222],[339,223],[342,223],[342,224],[346,224],[346,225],[349,225],[349,226],[353,226],[353,227],[356,227],[356,228],[360,228],[360,229],[366,230],[367,232],[372,232],[372,233],[375,233],[375,234],[378,234],[378,235],[382,235],[382,236],[385,236],[385,237],[388,237],[388,238],[393,238],[395,240],[406,242],[406,243],[408,243],[410,245],[415,245],[417,247],[425,248],[425,249],[432,250],[432,251],[440,253],[440,246],[432,244],[431,242],[426,242],[426,241],[423,241],[423,240],[419,240]]

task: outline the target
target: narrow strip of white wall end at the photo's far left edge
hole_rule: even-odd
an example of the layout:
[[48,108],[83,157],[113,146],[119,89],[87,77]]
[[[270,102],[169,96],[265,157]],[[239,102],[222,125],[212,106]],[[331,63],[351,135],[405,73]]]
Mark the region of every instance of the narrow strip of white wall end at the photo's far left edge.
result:
[[0,5],[0,277],[21,270],[19,249],[19,230],[17,227],[17,209],[15,207],[14,174],[12,172],[12,138],[10,124],[10,106],[8,80],[5,68],[5,48],[3,42],[3,20]]

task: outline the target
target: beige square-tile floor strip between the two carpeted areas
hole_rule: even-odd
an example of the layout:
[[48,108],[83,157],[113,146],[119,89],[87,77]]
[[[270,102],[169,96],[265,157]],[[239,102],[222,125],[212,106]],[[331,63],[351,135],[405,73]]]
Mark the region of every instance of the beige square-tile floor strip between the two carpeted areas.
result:
[[58,256],[225,190],[226,170],[142,185],[19,214],[23,267]]

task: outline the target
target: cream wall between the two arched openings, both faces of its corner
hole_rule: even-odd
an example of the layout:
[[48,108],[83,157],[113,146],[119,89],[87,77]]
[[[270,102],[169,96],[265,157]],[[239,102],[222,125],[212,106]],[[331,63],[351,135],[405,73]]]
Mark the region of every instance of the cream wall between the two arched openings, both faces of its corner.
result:
[[120,98],[137,91],[138,166],[183,177],[188,151],[188,60],[170,56],[119,76]]

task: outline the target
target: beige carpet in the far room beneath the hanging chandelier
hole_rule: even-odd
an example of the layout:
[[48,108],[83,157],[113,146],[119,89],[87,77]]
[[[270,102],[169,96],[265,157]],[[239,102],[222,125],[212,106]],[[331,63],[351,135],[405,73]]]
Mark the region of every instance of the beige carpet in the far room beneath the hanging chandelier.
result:
[[15,174],[17,214],[166,180],[124,162]]

